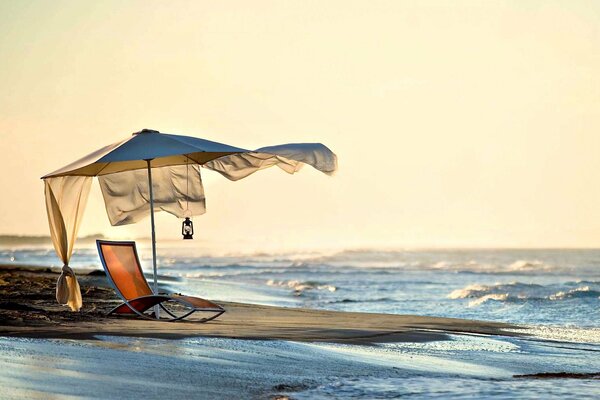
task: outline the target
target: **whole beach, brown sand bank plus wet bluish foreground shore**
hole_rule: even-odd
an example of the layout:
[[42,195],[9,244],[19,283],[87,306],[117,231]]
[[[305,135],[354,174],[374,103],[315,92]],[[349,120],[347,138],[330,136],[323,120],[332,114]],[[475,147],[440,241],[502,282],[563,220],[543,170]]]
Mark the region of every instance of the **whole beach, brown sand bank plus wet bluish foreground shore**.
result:
[[58,270],[0,267],[0,397],[589,397],[598,388],[595,345],[514,325],[218,299],[227,312],[208,323],[107,317],[119,300],[106,277],[78,276],[84,308],[74,313],[54,299]]

